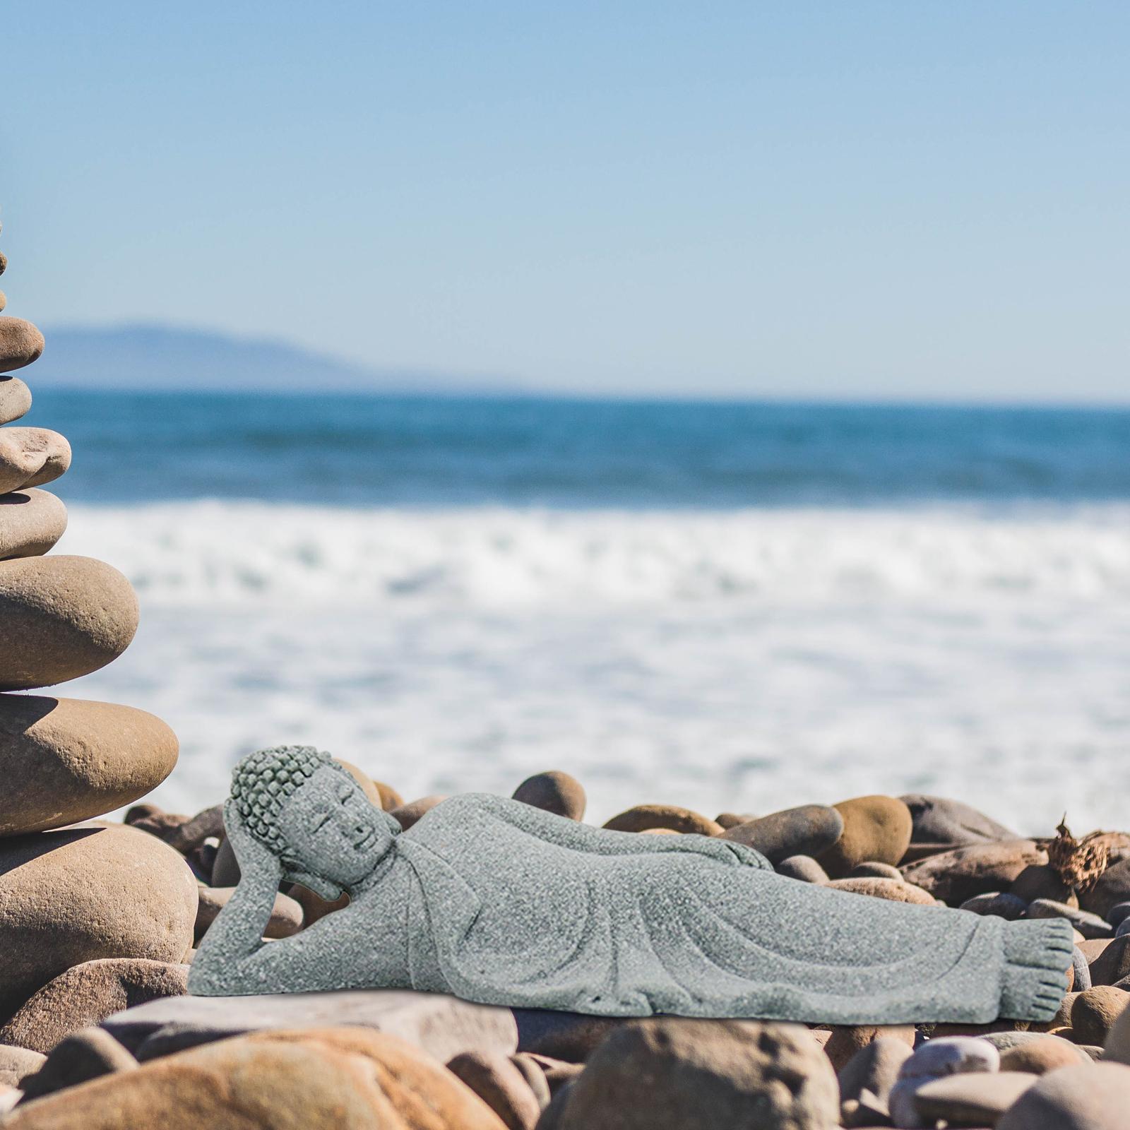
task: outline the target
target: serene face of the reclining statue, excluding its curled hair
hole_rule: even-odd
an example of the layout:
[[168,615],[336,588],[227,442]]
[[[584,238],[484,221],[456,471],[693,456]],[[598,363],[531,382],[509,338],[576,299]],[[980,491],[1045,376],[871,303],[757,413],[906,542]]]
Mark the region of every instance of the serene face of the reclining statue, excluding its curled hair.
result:
[[[322,879],[345,890],[356,887],[392,845],[388,817],[334,765],[316,770],[295,790],[277,827],[285,844],[282,866],[304,886]],[[325,897],[318,886],[312,889]]]

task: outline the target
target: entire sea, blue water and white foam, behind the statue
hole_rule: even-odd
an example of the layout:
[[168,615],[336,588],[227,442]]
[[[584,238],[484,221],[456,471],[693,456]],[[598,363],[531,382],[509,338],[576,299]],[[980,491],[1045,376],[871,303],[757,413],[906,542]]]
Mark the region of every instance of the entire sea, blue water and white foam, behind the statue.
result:
[[940,792],[1130,824],[1130,412],[42,393],[142,623],[67,693],[156,798],[312,742],[406,797],[542,768],[601,819]]

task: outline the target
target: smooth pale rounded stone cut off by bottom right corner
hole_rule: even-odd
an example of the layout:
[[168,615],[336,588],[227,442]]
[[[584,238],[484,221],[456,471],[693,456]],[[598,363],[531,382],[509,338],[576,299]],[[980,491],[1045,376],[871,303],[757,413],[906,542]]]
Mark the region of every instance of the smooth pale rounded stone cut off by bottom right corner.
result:
[[1125,1130],[1130,1067],[1093,1063],[1049,1071],[997,1123],[997,1130]]

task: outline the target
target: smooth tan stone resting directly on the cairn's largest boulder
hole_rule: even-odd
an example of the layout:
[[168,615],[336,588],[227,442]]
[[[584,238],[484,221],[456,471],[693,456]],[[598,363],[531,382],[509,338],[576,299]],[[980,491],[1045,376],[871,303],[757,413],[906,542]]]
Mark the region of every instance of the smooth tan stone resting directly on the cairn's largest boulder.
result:
[[145,711],[0,694],[0,836],[59,828],[128,805],[168,776],[176,755],[176,734]]

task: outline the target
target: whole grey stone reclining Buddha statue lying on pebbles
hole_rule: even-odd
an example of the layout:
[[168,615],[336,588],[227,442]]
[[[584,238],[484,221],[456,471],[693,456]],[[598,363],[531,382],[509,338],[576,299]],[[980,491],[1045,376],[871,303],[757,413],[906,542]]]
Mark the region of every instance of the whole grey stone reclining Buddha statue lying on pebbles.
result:
[[[796,883],[721,836],[593,828],[485,793],[401,829],[311,747],[244,758],[224,816],[242,878],[192,963],[198,996],[415,988],[596,1016],[983,1024],[1051,1019],[1071,960],[1061,919]],[[350,902],[264,942],[284,880]]]

